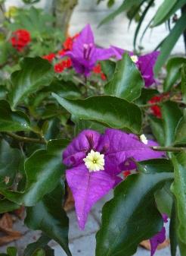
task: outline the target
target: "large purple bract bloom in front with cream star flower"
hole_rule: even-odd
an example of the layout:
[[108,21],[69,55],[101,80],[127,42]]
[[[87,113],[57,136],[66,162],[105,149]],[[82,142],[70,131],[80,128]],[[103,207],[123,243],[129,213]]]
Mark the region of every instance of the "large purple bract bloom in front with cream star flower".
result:
[[162,152],[151,150],[138,137],[123,131],[82,131],[63,154],[64,164],[69,167],[67,183],[73,192],[79,227],[84,229],[91,207],[122,181],[118,175],[126,160],[162,156]]

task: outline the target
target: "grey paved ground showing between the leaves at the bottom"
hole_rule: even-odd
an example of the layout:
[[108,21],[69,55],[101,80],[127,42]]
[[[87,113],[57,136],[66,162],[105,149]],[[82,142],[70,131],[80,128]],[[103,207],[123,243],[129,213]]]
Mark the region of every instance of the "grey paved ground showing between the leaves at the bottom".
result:
[[[84,231],[79,230],[74,211],[68,213],[70,218],[70,250],[73,256],[95,256],[95,233],[98,231],[100,225],[101,207],[109,198],[110,196],[107,196],[107,198],[104,198],[104,200],[95,205],[88,216],[88,223],[86,223]],[[28,230],[26,226],[23,225],[23,221],[14,223],[14,229],[22,232],[24,234],[23,238],[8,244],[8,246],[16,246],[19,255],[22,256],[26,245],[30,242],[36,242],[41,232]],[[54,248],[55,256],[67,256],[56,242],[51,241],[49,245]],[[0,252],[5,252],[6,247],[7,246],[0,247]],[[135,256],[150,256],[150,251],[139,247]],[[169,247],[157,251],[154,256],[170,256]],[[179,254],[176,256],[179,256]]]

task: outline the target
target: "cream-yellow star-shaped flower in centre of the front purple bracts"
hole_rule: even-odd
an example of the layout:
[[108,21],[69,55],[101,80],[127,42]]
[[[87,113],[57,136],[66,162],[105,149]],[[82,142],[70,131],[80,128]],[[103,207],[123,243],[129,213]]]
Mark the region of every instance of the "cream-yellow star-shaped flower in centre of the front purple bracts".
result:
[[85,166],[88,168],[89,172],[104,170],[104,154],[91,150],[83,161],[85,162]]

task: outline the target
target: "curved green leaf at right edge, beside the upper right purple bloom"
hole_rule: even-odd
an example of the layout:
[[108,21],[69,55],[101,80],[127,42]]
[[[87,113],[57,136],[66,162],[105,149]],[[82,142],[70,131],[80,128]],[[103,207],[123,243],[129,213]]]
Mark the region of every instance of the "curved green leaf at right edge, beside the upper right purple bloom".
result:
[[164,92],[171,90],[176,81],[181,79],[181,65],[184,63],[186,63],[186,58],[176,57],[169,59],[169,62],[166,65],[166,80],[163,84]]

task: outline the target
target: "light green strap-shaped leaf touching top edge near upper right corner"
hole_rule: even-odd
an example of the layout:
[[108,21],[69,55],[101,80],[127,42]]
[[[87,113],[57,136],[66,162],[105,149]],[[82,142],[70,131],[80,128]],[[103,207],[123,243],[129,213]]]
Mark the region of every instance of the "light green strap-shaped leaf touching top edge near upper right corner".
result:
[[157,25],[161,24],[162,20],[169,14],[169,12],[172,10],[174,5],[178,2],[178,0],[164,0],[163,4],[160,5],[160,7],[157,10],[157,13],[153,17],[153,27],[156,27]]

